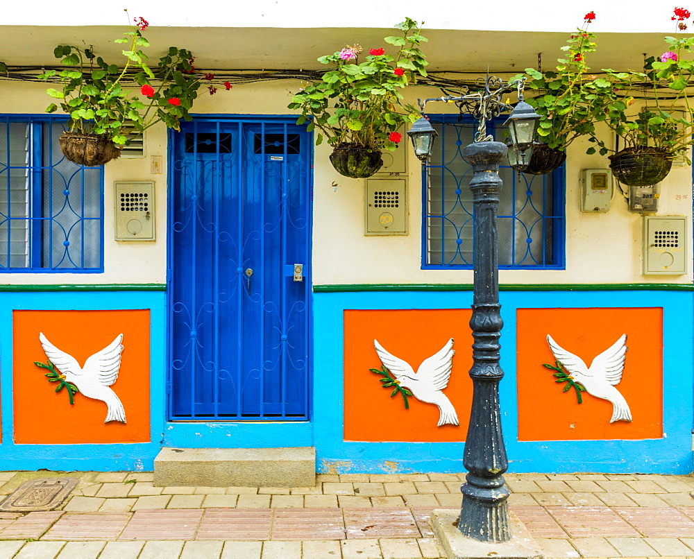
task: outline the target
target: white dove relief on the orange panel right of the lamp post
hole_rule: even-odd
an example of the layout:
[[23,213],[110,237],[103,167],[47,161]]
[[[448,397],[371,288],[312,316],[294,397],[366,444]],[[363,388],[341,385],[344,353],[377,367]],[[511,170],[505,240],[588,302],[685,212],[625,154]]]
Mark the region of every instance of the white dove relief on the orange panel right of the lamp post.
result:
[[547,343],[550,345],[555,359],[564,365],[574,381],[581,383],[589,394],[612,402],[613,411],[610,423],[619,420],[632,420],[629,404],[615,388],[622,380],[624,361],[627,359],[627,334],[622,334],[611,347],[595,357],[590,368],[586,367],[586,363],[579,356],[560,347],[557,342],[552,340],[552,336],[547,336]]

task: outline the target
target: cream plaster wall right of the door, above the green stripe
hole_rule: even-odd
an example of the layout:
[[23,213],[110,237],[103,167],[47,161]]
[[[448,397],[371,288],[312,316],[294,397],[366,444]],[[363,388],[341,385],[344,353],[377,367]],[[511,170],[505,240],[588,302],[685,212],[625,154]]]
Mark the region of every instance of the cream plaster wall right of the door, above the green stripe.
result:
[[[412,88],[415,96],[439,96],[437,89]],[[450,105],[430,103],[428,112],[450,112]],[[613,143],[607,133],[605,141]],[[609,212],[580,211],[581,169],[607,169],[607,156],[586,155],[591,144],[575,141],[566,164],[566,269],[500,270],[505,284],[593,283],[691,283],[692,281],[692,169],[674,167],[661,183],[658,215],[688,217],[688,266],[686,275],[641,273],[643,218],[629,212],[619,191]],[[314,284],[465,284],[472,283],[472,270],[421,269],[421,166],[409,145],[409,234],[364,236],[364,180],[345,178],[325,164],[330,148],[316,148],[314,209]],[[337,185],[337,186],[334,186]],[[678,199],[679,198],[679,199]]]

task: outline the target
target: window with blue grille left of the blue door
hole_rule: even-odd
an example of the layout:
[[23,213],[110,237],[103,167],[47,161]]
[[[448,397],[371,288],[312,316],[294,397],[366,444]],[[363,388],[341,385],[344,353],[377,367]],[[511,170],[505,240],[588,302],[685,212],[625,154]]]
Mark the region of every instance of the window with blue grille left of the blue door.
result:
[[103,271],[103,167],[65,159],[66,125],[0,116],[0,272]]

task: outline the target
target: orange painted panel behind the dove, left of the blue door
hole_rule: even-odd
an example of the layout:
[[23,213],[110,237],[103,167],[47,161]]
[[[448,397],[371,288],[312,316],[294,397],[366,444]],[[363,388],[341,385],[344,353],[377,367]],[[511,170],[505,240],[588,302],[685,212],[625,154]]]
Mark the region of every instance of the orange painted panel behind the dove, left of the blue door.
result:
[[[149,442],[149,310],[13,311],[12,319],[15,442]],[[39,332],[81,366],[123,334],[121,368],[110,388],[123,403],[127,423],[104,423],[101,400],[77,393],[70,405],[67,388],[55,392],[46,370],[34,365],[47,361]]]

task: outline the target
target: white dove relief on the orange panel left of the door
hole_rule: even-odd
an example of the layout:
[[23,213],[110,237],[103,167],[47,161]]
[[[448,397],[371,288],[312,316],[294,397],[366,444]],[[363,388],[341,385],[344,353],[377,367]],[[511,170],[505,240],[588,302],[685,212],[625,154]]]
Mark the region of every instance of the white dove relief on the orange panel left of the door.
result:
[[46,356],[53,365],[65,375],[65,380],[74,384],[87,398],[102,400],[108,406],[106,419],[109,421],[126,422],[126,411],[116,393],[108,388],[118,378],[121,368],[121,352],[123,352],[123,334],[119,334],[114,341],[96,352],[80,367],[77,360],[70,354],[59,350],[58,347],[48,341],[48,338],[39,334],[39,340]]

